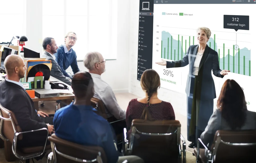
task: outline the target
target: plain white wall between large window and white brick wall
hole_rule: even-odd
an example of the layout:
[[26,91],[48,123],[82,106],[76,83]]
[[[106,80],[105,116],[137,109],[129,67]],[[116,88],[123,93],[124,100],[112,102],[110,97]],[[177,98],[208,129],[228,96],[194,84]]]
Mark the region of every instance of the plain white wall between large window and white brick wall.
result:
[[[117,19],[117,59],[106,61],[106,71],[101,77],[111,86],[115,93],[121,93],[128,92],[130,0],[118,1]],[[102,55],[104,57],[104,54]],[[88,71],[82,61],[78,61],[78,67],[81,71]],[[67,71],[72,72],[71,67]]]

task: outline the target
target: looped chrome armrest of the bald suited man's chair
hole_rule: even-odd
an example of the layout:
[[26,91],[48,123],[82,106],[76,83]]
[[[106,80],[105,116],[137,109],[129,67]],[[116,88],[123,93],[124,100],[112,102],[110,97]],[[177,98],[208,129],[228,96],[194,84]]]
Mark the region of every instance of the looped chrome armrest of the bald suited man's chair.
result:
[[[14,138],[13,138],[13,153],[16,157],[18,157],[19,159],[21,158],[17,152],[16,152],[16,148],[17,148],[17,138],[18,138],[18,135],[19,134],[23,134],[23,133],[29,133],[29,132],[37,132],[37,131],[42,131],[42,130],[46,130],[47,131],[47,136],[46,136],[46,141],[45,141],[45,146],[46,146],[46,143],[47,143],[47,140],[48,140],[48,135],[49,135],[49,132],[48,132],[48,129],[47,128],[41,128],[41,129],[37,129],[37,130],[31,130],[31,131],[23,131],[23,132],[16,132],[14,134]],[[42,155],[44,152],[45,152],[45,146],[44,146],[44,150],[43,152],[40,154]],[[40,156],[38,155],[38,156]],[[27,156],[29,157],[29,156]],[[37,157],[37,156],[33,156],[33,157]]]

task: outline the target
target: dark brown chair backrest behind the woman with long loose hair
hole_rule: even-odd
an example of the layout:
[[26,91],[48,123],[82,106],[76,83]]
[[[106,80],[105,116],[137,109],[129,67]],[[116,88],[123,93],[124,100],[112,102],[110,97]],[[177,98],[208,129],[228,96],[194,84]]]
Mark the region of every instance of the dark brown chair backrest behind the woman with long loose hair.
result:
[[218,130],[212,151],[213,162],[250,162],[256,151],[256,130]]

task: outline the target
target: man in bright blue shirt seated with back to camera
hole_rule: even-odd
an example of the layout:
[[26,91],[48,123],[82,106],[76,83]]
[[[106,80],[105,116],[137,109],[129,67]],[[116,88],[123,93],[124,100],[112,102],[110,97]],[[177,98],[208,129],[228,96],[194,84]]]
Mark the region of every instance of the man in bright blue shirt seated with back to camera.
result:
[[109,163],[128,158],[141,162],[141,159],[136,156],[119,157],[110,124],[102,116],[93,112],[91,106],[91,98],[94,94],[93,85],[90,73],[80,71],[74,74],[72,89],[75,100],[56,112],[54,116],[56,136],[81,145],[101,146]]

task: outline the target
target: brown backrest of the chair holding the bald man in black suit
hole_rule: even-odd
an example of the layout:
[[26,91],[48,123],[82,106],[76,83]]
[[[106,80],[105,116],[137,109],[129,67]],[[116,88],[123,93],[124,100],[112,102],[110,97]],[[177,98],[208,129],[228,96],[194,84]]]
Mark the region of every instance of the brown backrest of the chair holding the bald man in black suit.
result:
[[[4,108],[1,104],[0,115],[0,134],[13,143],[15,132],[22,132],[20,126],[18,125],[17,119],[12,111]],[[22,134],[18,135],[18,140],[22,140]]]

